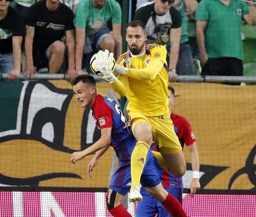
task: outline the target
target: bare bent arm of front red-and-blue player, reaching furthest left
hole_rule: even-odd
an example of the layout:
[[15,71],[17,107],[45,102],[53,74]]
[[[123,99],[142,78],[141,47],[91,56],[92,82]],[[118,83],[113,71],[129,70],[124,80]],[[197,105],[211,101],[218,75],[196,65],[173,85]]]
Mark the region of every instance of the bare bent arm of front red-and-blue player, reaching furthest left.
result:
[[76,151],[71,154],[71,162],[76,163],[77,160],[83,159],[85,156],[89,154],[93,154],[96,151],[99,151],[100,149],[103,149],[104,147],[109,147],[111,144],[111,130],[112,128],[102,128],[100,130],[101,137],[95,144],[88,147],[87,149],[84,149],[83,151]]

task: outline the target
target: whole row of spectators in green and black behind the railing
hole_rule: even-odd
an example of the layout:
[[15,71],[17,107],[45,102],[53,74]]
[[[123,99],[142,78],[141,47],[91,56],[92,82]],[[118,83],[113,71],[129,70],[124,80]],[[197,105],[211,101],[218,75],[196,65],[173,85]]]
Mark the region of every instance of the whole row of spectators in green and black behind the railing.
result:
[[[193,63],[200,63],[202,75],[243,75],[241,25],[256,25],[253,0],[132,0],[132,6],[147,42],[166,46],[170,81],[195,75]],[[88,60],[98,50],[118,58],[122,11],[120,0],[0,1],[0,73],[17,79],[20,72],[33,76],[47,68],[72,80],[89,72]],[[196,22],[196,54],[188,20]]]

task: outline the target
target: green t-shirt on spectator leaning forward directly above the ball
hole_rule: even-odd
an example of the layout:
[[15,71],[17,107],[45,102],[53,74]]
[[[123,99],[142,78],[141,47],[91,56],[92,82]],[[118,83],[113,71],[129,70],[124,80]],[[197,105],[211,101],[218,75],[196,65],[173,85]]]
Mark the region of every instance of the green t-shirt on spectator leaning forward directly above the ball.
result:
[[122,21],[120,4],[115,0],[107,0],[99,10],[92,4],[92,0],[82,0],[76,8],[74,25],[85,28],[87,35],[92,35],[106,27],[108,21],[119,24]]

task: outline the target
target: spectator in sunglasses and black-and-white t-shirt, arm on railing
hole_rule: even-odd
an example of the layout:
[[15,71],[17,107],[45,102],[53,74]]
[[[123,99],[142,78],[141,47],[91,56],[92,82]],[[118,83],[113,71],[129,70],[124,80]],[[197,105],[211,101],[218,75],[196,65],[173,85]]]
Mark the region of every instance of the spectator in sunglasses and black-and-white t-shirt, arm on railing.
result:
[[170,40],[168,63],[169,81],[177,77],[176,67],[179,59],[181,17],[179,11],[172,7],[174,0],[156,0],[145,3],[135,12],[134,20],[145,24],[147,43],[165,44]]

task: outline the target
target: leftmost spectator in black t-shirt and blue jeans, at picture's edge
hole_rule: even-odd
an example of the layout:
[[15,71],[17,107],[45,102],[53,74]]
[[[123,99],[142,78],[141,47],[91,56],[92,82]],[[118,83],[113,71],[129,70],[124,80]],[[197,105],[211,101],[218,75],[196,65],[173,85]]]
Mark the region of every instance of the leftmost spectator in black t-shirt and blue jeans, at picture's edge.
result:
[[9,79],[20,75],[21,43],[25,36],[24,20],[10,7],[10,1],[0,4],[0,73],[9,73]]

